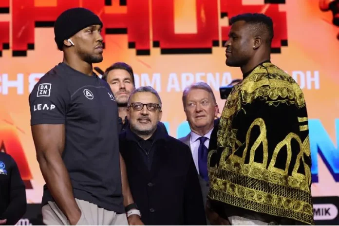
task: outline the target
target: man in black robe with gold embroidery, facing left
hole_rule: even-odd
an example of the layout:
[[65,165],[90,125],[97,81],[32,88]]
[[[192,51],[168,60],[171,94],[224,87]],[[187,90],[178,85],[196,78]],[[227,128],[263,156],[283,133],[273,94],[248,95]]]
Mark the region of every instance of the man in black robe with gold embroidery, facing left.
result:
[[240,67],[243,81],[226,100],[217,144],[208,153],[209,220],[224,225],[220,219],[231,225],[312,225],[311,155],[302,91],[270,62],[269,17],[243,14],[230,22],[226,65]]

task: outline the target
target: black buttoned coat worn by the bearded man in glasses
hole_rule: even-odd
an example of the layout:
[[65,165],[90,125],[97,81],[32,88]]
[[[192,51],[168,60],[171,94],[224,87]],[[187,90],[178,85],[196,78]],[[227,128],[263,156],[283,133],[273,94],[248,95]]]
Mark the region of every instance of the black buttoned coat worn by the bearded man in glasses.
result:
[[131,130],[119,136],[134,202],[145,225],[206,225],[197,170],[187,145],[156,130],[151,171]]

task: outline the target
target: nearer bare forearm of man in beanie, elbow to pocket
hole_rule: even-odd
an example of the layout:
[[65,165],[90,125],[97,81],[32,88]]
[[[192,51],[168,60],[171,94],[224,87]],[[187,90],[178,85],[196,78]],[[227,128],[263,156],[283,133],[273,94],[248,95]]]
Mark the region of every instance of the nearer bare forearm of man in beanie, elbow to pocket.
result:
[[40,158],[39,165],[57,206],[71,224],[76,223],[81,211],[75,202],[70,176],[61,157],[53,158],[53,160]]

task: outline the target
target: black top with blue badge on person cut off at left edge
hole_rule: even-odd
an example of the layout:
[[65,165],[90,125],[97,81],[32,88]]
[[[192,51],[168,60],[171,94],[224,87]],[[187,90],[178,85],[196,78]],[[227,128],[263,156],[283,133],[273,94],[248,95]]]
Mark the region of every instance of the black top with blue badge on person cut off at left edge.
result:
[[14,159],[0,151],[0,220],[15,225],[26,212],[26,190]]

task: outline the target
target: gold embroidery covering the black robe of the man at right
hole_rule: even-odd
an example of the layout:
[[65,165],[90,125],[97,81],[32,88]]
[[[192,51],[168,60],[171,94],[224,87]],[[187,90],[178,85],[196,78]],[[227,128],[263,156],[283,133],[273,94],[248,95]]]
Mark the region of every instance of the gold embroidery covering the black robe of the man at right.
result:
[[[271,63],[258,66],[241,84],[236,85],[226,100],[220,119],[218,150],[208,154],[208,197],[233,206],[314,224],[310,191],[311,170],[305,163],[305,158],[310,158],[309,137],[302,141],[296,134],[298,132],[286,133],[286,137],[271,150],[269,157],[265,121],[263,118],[256,118],[247,128],[245,142],[237,139],[238,128],[233,127],[233,120],[246,104],[251,104],[255,99],[264,101],[268,106],[285,104],[298,109],[305,107],[299,85]],[[300,125],[300,131],[308,130],[307,117],[298,117],[298,122],[305,122]],[[260,132],[250,145],[254,127],[259,128]],[[294,146],[293,153],[297,151],[298,154],[293,160],[292,140],[293,144],[299,144]],[[245,149],[238,153],[242,145]],[[256,162],[255,155],[258,154],[256,152],[259,147],[263,160]],[[218,151],[222,151],[219,165],[210,166],[211,156]],[[276,159],[281,151],[286,153],[286,162],[282,169],[276,167]],[[246,156],[249,156],[248,164],[245,164]],[[282,163],[277,164],[281,166]],[[291,164],[293,171],[289,174]],[[299,169],[304,169],[301,170],[304,173],[300,173]]]

